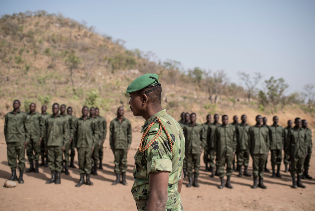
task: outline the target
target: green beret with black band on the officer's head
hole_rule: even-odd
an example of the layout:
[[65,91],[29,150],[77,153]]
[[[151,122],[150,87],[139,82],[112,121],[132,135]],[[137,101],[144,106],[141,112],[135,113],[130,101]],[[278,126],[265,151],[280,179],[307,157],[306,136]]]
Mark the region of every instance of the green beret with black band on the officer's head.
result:
[[147,90],[146,93],[148,93],[156,90],[158,86],[161,86],[160,81],[158,81],[158,75],[147,73],[132,81],[127,87],[127,93],[137,92],[146,87],[154,87],[151,90]]

